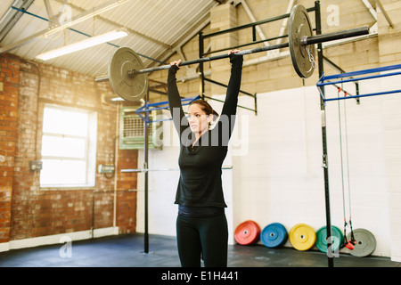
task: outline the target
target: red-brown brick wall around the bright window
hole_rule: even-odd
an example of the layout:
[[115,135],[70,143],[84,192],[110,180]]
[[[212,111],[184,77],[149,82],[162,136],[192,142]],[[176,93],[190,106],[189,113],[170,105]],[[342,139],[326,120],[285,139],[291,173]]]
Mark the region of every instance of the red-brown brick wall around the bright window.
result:
[[136,192],[129,190],[136,188],[136,174],[120,169],[136,167],[137,151],[118,150],[117,179],[96,174],[92,188],[44,190],[39,172],[29,170],[29,161],[41,159],[45,103],[96,111],[96,166],[114,164],[119,106],[102,101],[110,86],[9,54],[0,62],[0,242],[113,225],[135,232]]

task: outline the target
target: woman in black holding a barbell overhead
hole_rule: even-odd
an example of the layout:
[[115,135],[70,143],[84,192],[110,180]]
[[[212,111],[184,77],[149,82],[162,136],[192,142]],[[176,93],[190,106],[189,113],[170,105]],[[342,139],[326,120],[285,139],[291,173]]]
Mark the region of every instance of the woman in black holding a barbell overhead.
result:
[[225,267],[227,265],[228,228],[221,167],[233,131],[238,94],[241,85],[242,55],[230,51],[232,63],[225,104],[217,119],[208,102],[192,102],[185,117],[176,86],[176,71],[181,61],[171,62],[168,69],[168,102],[174,125],[180,135],[178,165],[180,178],[176,191],[178,216],[176,238],[178,255],[184,267]]

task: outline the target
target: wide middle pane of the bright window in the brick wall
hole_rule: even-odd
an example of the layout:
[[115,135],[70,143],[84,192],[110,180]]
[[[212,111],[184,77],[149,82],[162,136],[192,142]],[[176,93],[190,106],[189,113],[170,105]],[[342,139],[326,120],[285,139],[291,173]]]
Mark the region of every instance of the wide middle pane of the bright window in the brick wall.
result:
[[42,155],[46,157],[65,157],[84,159],[86,140],[61,136],[42,137]]

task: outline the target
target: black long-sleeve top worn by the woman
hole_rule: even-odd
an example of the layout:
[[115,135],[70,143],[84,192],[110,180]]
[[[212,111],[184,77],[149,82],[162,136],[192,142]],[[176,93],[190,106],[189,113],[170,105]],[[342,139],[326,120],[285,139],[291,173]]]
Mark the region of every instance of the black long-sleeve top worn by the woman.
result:
[[168,69],[168,102],[171,116],[180,136],[178,165],[180,178],[176,191],[176,204],[190,208],[225,208],[222,170],[233,131],[241,85],[242,55],[230,54],[232,63],[225,103],[217,125],[202,134],[195,142],[188,119],[184,115],[180,94],[176,86],[176,71]]

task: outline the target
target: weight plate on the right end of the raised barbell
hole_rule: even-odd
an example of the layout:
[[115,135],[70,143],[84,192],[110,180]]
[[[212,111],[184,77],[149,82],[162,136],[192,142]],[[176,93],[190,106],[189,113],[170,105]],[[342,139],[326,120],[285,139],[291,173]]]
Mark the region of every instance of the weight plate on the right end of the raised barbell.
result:
[[[307,78],[312,76],[314,68],[307,53],[307,47],[302,45],[303,37],[312,36],[312,26],[307,15],[307,9],[302,5],[295,5],[292,8],[288,37],[291,53],[291,61],[299,77]],[[308,45],[309,52],[315,58],[315,45]]]

